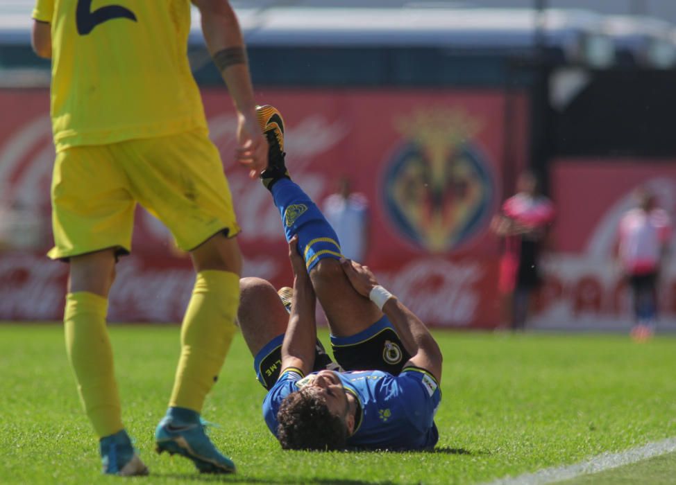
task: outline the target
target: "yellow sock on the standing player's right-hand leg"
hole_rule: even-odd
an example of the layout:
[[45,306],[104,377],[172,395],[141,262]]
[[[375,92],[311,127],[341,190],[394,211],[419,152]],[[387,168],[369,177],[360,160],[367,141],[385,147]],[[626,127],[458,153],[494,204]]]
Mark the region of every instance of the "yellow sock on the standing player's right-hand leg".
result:
[[181,353],[169,406],[202,411],[235,335],[239,276],[201,271],[185,310],[180,331]]

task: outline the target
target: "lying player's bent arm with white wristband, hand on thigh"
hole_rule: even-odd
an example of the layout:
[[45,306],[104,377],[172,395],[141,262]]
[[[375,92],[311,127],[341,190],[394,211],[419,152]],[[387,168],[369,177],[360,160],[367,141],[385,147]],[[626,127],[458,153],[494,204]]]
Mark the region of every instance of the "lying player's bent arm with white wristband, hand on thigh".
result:
[[405,349],[412,355],[405,367],[421,367],[441,382],[441,350],[425,324],[393,294],[378,285],[368,267],[348,259],[341,259],[341,265],[355,290],[381,307],[391,321]]

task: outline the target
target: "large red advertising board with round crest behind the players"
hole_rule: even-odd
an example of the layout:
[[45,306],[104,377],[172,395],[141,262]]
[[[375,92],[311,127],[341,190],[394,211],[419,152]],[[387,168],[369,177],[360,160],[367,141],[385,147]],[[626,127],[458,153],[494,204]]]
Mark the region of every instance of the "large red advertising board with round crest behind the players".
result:
[[[320,206],[343,176],[366,195],[366,263],[384,284],[429,324],[498,323],[498,245],[488,225],[504,198],[507,160],[523,159],[523,96],[495,90],[265,89],[258,98],[285,116],[291,176]],[[233,161],[236,121],[227,93],[208,89],[203,101],[242,226],[244,274],[288,284],[287,249],[271,197]],[[12,114],[0,118],[1,198],[35,221],[26,232],[33,252],[0,254],[0,319],[59,319],[62,311],[67,266],[42,256],[51,245],[48,103],[47,91],[0,91],[3,112]],[[109,317],[177,321],[192,281],[189,263],[171,249],[166,229],[140,210],[133,256],[118,265]]]

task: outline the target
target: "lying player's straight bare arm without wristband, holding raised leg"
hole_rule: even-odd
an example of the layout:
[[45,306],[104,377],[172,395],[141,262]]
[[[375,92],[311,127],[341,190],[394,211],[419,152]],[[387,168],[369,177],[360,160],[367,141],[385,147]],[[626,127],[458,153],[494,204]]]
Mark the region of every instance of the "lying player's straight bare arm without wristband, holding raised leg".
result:
[[305,260],[298,254],[298,236],[289,242],[289,259],[294,269],[294,301],[291,303],[289,325],[282,342],[282,372],[295,367],[310,373],[314,367],[314,347],[317,341],[314,308],[316,297]]

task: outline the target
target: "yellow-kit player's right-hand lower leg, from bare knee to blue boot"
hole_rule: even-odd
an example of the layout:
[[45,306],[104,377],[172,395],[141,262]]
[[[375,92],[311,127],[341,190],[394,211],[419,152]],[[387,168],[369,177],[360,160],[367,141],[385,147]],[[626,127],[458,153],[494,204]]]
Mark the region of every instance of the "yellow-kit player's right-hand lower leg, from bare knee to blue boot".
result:
[[187,457],[201,472],[233,473],[235,464],[214,447],[200,414],[235,335],[242,255],[237,240],[222,233],[190,254],[196,281],[181,326],[174,390],[155,441],[158,452]]

